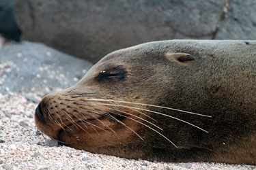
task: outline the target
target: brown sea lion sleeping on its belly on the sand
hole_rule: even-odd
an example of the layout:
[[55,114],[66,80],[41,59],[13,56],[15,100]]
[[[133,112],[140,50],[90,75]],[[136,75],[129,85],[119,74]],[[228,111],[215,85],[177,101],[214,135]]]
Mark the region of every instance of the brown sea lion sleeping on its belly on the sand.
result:
[[169,162],[256,163],[256,41],[155,41],[104,56],[35,110],[66,146]]

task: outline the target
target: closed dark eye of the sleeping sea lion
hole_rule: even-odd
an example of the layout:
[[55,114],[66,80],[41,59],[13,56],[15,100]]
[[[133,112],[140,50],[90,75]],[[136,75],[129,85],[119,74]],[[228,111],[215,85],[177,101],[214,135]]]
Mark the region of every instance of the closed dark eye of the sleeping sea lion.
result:
[[122,67],[115,67],[113,69],[106,69],[103,71],[100,71],[96,79],[98,81],[104,81],[104,80],[123,80],[126,77],[126,71],[122,69]]

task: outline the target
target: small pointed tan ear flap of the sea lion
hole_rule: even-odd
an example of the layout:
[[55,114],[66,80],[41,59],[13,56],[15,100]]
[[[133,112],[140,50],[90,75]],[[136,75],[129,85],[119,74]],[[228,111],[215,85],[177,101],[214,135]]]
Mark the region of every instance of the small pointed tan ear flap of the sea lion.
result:
[[178,63],[188,63],[189,61],[195,60],[195,56],[183,52],[171,53],[167,52],[165,55],[169,61],[175,61]]

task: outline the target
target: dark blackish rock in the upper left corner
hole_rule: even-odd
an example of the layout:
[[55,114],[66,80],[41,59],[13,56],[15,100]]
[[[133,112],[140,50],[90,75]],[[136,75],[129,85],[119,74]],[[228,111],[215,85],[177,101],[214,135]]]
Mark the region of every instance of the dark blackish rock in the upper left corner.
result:
[[13,0],[0,1],[0,33],[8,39],[19,41],[20,29],[13,14]]

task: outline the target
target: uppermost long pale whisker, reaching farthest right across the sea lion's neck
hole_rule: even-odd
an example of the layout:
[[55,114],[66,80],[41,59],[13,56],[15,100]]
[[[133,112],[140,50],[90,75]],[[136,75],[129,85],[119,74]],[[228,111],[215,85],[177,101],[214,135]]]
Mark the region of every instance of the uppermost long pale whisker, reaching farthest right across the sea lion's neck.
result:
[[144,103],[133,103],[133,102],[128,102],[128,101],[115,101],[115,100],[109,100],[109,99],[88,99],[86,101],[112,101],[112,102],[119,102],[119,103],[129,103],[129,104],[134,104],[134,105],[145,105],[145,106],[151,106],[151,107],[158,107],[158,108],[162,108],[162,109],[171,109],[171,110],[174,110],[174,111],[177,111],[177,112],[184,112],[184,113],[187,113],[187,114],[195,114],[197,116],[205,116],[205,117],[208,117],[208,118],[212,118],[212,116],[208,116],[208,115],[204,115],[204,114],[196,114],[196,113],[184,111],[184,110],[181,110],[181,109],[174,109],[174,108],[171,108],[171,107],[163,107],[163,106],[160,106],[160,105],[149,105],[149,104],[144,104]]

